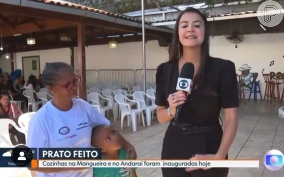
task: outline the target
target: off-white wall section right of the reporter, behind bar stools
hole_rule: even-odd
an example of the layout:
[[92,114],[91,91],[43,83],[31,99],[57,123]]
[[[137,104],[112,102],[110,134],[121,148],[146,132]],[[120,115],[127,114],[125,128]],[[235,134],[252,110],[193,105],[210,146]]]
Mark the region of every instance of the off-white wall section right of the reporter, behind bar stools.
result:
[[[269,72],[284,73],[284,33],[245,35],[244,41],[237,45],[229,43],[224,37],[214,37],[210,40],[210,52],[214,57],[230,59],[236,65],[236,72],[243,63],[252,67],[251,72],[259,73],[261,94],[264,96],[265,83],[261,74]],[[269,66],[274,60],[274,65]],[[282,94],[283,86],[280,86]],[[251,98],[253,95],[251,96]],[[248,98],[248,96],[246,96]]]

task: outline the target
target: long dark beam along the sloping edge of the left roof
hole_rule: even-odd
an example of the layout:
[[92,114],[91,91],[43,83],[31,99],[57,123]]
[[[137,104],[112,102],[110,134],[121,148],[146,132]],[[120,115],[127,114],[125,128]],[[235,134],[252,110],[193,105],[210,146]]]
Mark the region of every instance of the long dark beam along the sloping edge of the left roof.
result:
[[[29,1],[32,3],[32,1]],[[29,5],[31,5],[29,3]],[[38,8],[53,7],[51,4],[35,3]],[[60,7],[56,6],[58,9],[62,9],[61,12],[57,11],[47,11],[46,9],[35,9],[25,6],[14,6],[10,4],[0,3],[0,11],[3,13],[17,14],[20,16],[28,16],[35,18],[48,18],[48,19],[60,19],[60,20],[71,20],[77,24],[80,22],[81,18],[84,18],[86,25],[105,27],[105,28],[114,28],[116,30],[128,31],[128,32],[141,32],[142,33],[142,23],[138,23],[130,20],[122,20],[119,18],[108,17],[106,15],[97,14],[88,11],[82,11],[74,8]],[[64,9],[64,10],[63,10]],[[85,17],[84,17],[84,16]],[[81,17],[80,17],[81,16]],[[100,19],[95,19],[94,17],[100,16]],[[97,17],[96,17],[97,18]],[[106,20],[108,19],[108,20]],[[145,33],[153,36],[167,37],[169,35],[168,29],[163,29],[161,31],[154,30],[157,28],[152,25],[145,25]],[[153,28],[153,29],[152,29]]]

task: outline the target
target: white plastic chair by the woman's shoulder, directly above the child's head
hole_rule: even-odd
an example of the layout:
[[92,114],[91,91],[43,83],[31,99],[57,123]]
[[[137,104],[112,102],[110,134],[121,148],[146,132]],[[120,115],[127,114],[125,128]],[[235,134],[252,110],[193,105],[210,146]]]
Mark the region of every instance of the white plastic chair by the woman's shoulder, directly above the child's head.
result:
[[[107,106],[102,106],[101,105],[101,99],[105,99],[107,100]],[[92,92],[92,93],[89,93],[88,94],[88,100],[94,104],[94,105],[97,105],[100,107],[100,110],[101,110],[101,114],[103,116],[105,116],[105,112],[106,111],[109,111],[109,110],[113,110],[113,105],[112,105],[112,101],[111,101],[111,98],[106,98],[102,95],[100,95],[98,92]],[[115,116],[115,113],[113,111],[113,116],[114,116],[114,119],[116,121],[116,116]]]

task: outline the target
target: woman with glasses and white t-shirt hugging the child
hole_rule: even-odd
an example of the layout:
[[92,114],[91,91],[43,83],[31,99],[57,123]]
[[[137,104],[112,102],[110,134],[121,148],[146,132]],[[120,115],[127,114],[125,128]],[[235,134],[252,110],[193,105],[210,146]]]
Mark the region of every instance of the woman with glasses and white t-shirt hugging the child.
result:
[[[81,98],[75,98],[81,77],[71,65],[49,63],[42,74],[43,83],[52,93],[48,101],[31,118],[28,127],[29,148],[89,148],[92,128],[110,125],[110,121]],[[121,136],[120,136],[121,137]],[[121,137],[128,155],[136,158],[134,147]],[[92,168],[30,168],[38,177],[93,177]]]

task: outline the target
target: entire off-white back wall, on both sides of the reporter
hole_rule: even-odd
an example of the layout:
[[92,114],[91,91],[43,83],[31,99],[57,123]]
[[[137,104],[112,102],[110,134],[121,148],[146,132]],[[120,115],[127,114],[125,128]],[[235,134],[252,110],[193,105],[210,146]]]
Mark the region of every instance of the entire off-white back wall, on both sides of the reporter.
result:
[[[284,33],[245,35],[244,41],[237,45],[228,42],[224,37],[210,39],[210,52],[213,57],[230,59],[236,64],[236,70],[247,63],[252,67],[251,72],[258,72],[264,95],[264,84],[261,71],[264,73],[284,72]],[[22,57],[39,55],[41,71],[46,62],[64,61],[70,63],[70,49],[42,50],[16,54],[16,67],[22,69]],[[77,48],[74,49],[75,69],[77,69]],[[146,43],[146,68],[155,69],[161,62],[168,59],[166,47],[160,47],[158,41]],[[275,64],[269,66],[270,61]],[[1,61],[0,61],[1,63]],[[2,64],[2,63],[1,63]],[[8,63],[9,64],[9,63]],[[8,65],[9,66],[9,65]],[[142,42],[118,44],[118,48],[110,49],[108,45],[86,47],[86,69],[141,69]],[[239,71],[236,71],[240,73]],[[281,87],[281,92],[282,92]]]

